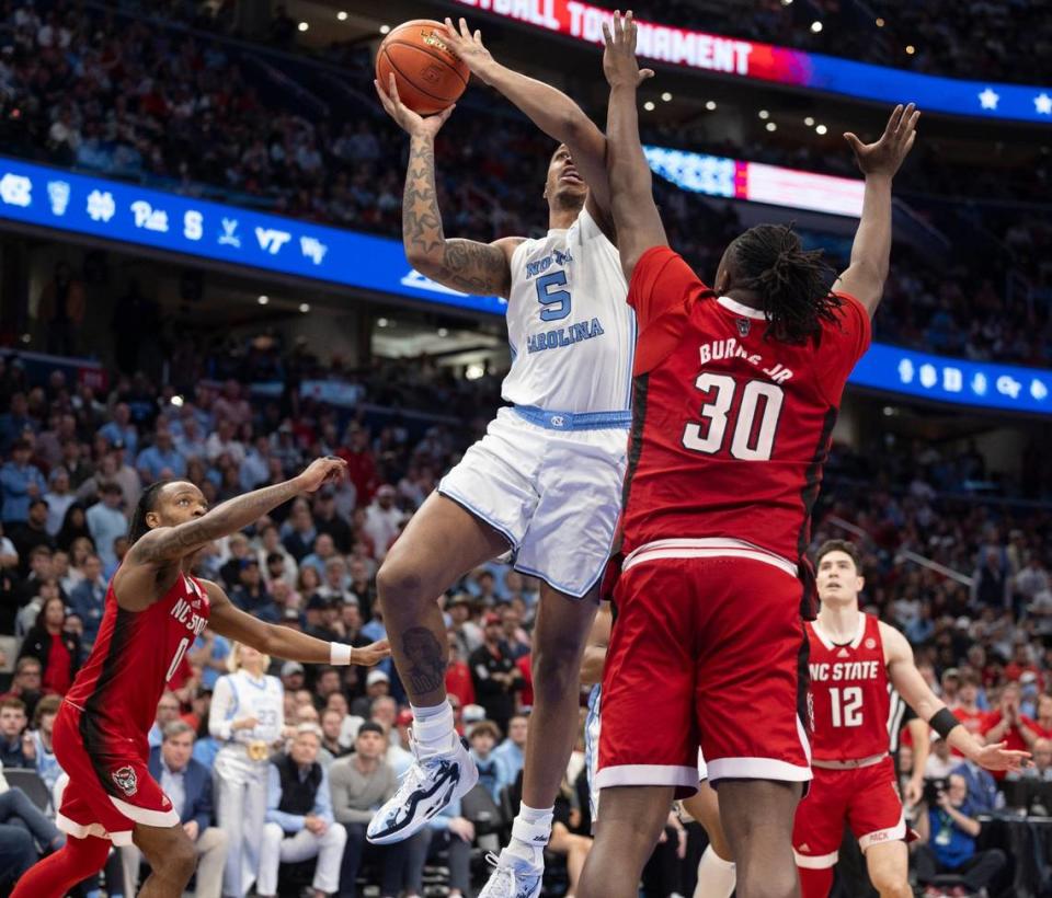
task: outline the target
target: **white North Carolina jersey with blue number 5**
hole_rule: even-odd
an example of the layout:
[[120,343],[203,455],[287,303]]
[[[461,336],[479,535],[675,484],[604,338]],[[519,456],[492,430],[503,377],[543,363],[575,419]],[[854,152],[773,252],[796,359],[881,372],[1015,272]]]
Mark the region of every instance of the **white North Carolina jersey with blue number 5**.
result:
[[512,255],[505,402],[561,412],[631,406],[636,313],[617,247],[585,209]]

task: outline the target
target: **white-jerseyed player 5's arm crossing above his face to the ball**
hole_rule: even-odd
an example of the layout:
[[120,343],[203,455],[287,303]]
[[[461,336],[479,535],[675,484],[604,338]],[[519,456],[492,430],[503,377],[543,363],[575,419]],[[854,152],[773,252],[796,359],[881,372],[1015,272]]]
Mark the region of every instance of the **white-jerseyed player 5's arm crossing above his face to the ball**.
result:
[[606,137],[573,100],[558,88],[498,62],[461,19],[459,28],[446,19],[449,47],[471,74],[500,91],[545,134],[565,143],[573,164],[588,185],[586,207],[608,238],[614,239],[610,189],[606,171]]

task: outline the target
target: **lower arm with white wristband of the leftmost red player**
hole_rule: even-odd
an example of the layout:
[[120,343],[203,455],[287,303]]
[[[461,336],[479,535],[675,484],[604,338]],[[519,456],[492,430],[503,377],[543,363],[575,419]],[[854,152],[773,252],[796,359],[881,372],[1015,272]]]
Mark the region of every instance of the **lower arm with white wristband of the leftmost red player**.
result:
[[330,643],[308,636],[289,626],[264,623],[235,606],[218,584],[210,580],[203,583],[210,606],[208,626],[220,636],[237,640],[264,655],[304,664],[357,664],[371,667],[391,654],[387,640],[353,648],[345,643]]

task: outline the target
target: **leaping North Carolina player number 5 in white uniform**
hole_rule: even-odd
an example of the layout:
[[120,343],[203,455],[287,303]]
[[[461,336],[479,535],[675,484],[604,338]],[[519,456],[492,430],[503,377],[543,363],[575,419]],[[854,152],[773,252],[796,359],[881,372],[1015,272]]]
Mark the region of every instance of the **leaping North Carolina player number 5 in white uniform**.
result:
[[409,261],[447,287],[508,300],[512,368],[503,396],[512,407],[443,479],[379,571],[384,619],[415,718],[415,763],[368,836],[381,844],[405,839],[474,785],[478,772],[446,699],[447,643],[435,597],[512,550],[515,569],[541,580],[535,703],[523,804],[480,898],[534,898],[620,507],[636,324],[610,240],[603,133],[564,94],[496,64],[462,21],[456,30],[447,20],[444,39],[559,146],[542,189],[547,237],[448,239],[436,198],[435,136],[450,110],[423,118],[401,102],[393,77],[376,84],[384,108],[410,135],[402,206]]

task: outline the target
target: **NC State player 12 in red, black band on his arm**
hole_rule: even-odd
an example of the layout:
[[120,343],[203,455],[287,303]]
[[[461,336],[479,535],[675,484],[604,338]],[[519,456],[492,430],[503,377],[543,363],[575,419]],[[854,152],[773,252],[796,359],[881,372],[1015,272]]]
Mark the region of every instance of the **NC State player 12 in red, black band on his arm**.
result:
[[814,707],[814,779],[797,808],[792,848],[804,898],[833,885],[844,825],[851,828],[881,898],[910,898],[910,855],[895,770],[888,753],[889,684],[949,745],[987,770],[1017,770],[1029,757],[984,745],[928,688],[906,637],[858,609],[865,586],[849,542],[815,555],[819,617],[807,624]]

